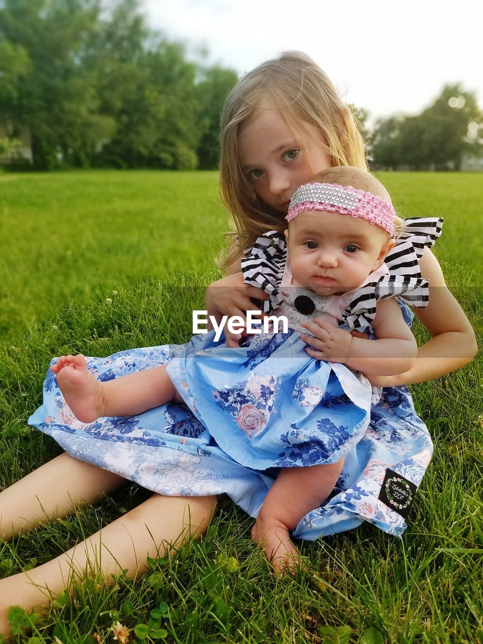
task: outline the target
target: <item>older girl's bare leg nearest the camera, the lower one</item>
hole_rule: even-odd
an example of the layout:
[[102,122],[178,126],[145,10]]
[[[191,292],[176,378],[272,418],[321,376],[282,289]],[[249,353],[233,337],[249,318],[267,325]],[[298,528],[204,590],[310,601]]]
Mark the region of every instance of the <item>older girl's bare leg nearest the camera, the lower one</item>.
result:
[[190,536],[202,535],[215,508],[216,497],[154,494],[47,564],[0,580],[0,633],[10,633],[6,620],[10,605],[45,609],[52,594],[68,587],[72,576],[82,576],[86,569],[100,572],[106,583],[123,569],[131,578],[144,574],[148,556],[162,556]]

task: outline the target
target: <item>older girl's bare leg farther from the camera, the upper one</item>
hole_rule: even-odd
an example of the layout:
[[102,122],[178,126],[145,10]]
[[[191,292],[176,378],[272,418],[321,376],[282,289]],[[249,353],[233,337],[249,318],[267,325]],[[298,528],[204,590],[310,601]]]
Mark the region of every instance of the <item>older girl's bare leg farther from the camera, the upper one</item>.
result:
[[41,522],[99,503],[126,478],[64,453],[0,492],[0,536],[9,539]]

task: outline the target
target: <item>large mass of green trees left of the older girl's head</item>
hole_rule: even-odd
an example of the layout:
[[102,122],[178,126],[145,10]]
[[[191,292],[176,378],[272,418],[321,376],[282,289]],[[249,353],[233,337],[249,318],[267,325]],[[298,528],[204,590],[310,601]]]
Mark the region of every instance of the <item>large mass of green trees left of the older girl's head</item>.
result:
[[33,164],[216,164],[230,70],[205,70],[149,30],[140,0],[0,0],[0,121]]

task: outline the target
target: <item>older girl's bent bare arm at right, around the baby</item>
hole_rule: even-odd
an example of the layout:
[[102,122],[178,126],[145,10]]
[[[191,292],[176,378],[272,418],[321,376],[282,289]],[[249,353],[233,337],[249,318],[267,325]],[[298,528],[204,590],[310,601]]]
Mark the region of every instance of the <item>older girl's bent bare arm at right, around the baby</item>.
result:
[[375,386],[422,383],[449,374],[466,365],[477,354],[475,332],[459,303],[446,286],[441,267],[431,251],[424,249],[419,261],[421,274],[430,280],[430,303],[414,312],[431,334],[419,347],[415,365],[392,377],[370,377]]

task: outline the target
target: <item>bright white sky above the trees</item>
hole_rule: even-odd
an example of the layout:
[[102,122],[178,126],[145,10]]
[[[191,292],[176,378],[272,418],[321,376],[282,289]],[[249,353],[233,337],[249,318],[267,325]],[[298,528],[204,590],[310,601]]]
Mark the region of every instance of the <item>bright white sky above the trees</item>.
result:
[[459,0],[142,0],[151,28],[238,73],[308,53],[370,120],[419,113],[446,83],[483,106],[483,3]]

